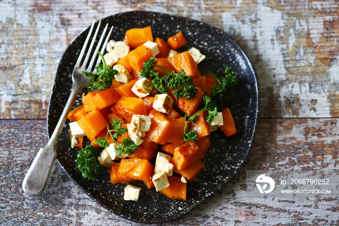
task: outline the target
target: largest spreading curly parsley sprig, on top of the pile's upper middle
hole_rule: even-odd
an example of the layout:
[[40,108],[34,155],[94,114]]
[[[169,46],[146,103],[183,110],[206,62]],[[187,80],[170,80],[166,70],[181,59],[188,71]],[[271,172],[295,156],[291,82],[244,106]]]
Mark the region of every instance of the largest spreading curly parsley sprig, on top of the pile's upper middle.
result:
[[[168,89],[165,87],[165,83],[168,88],[173,89],[171,92],[175,98],[186,97],[186,99],[192,99],[196,96],[198,90],[195,88],[193,78],[187,76],[184,70],[175,73],[175,71],[169,71],[165,67],[156,65],[155,63],[156,60],[154,57],[145,61],[140,72],[142,78],[151,79],[155,89],[166,94]],[[154,69],[151,69],[152,66],[158,66],[163,69],[163,71],[156,72]],[[160,78],[159,73],[166,74]]]

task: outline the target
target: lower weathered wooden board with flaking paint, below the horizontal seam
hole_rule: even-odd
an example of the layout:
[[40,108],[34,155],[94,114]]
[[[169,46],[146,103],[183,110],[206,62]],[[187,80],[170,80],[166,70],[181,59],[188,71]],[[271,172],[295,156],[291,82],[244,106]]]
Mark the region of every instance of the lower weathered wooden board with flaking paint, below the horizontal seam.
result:
[[[45,194],[23,193],[21,182],[38,147],[45,120],[0,120],[0,222],[9,225],[139,225],[92,201],[55,166]],[[338,225],[338,194],[323,198],[247,198],[246,170],[338,170],[339,119],[260,119],[242,169],[197,209],[162,225]]]

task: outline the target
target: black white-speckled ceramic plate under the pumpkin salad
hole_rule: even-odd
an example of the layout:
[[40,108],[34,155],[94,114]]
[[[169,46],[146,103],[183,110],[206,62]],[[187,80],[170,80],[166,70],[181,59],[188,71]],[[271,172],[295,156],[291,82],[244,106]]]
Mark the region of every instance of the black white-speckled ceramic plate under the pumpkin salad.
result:
[[[247,157],[255,133],[258,115],[258,84],[256,75],[243,50],[224,32],[197,20],[155,12],[126,12],[102,20],[102,28],[108,23],[114,25],[111,39],[123,40],[126,30],[151,26],[154,38],[167,40],[182,31],[190,47],[200,49],[206,55],[200,65],[217,75],[223,75],[223,66],[231,66],[238,78],[239,86],[231,113],[237,127],[237,134],[226,138],[218,130],[210,136],[211,148],[202,160],[206,169],[193,182],[187,184],[187,200],[174,200],[155,189],[147,189],[143,182],[133,184],[142,188],[138,202],[123,200],[125,184],[111,184],[109,172],[96,181],[83,179],[76,169],[78,149],[71,149],[68,121],[57,144],[58,161],[66,174],[93,200],[107,210],[127,220],[140,223],[170,221],[197,207],[209,195],[225,184],[241,167]],[[62,109],[70,94],[71,73],[79,50],[89,29],[82,32],[66,49],[59,64],[53,91],[50,97],[47,127],[51,136]],[[81,95],[81,93],[80,93]],[[80,95],[74,106],[81,104]]]

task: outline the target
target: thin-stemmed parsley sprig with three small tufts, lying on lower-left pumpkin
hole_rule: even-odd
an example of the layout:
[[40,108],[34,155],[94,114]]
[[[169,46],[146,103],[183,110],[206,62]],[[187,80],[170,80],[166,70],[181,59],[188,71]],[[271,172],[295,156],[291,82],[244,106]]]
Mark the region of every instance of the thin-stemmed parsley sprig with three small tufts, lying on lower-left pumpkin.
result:
[[98,139],[95,140],[95,142],[102,146],[102,147],[108,147],[108,141],[107,141],[107,137],[108,135],[111,136],[111,138],[113,139],[114,143],[116,145],[118,145],[118,148],[115,148],[115,153],[117,153],[117,156],[120,158],[123,154],[126,155],[130,155],[135,153],[138,148],[139,145],[136,145],[131,138],[126,138],[122,141],[122,145],[120,145],[119,143],[117,143],[116,139],[118,136],[122,136],[125,132],[127,132],[127,129],[124,127],[121,127],[121,125],[123,124],[123,121],[117,119],[117,120],[111,120],[109,121],[112,128],[113,129],[109,129],[109,124],[107,125],[107,134],[106,137],[99,137]]

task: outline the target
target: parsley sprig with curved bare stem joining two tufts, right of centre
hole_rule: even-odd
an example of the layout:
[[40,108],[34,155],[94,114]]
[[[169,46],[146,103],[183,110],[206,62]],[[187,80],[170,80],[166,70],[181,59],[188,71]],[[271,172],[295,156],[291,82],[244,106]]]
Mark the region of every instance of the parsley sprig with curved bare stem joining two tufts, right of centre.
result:
[[[200,111],[198,111],[197,113],[195,113],[194,115],[192,116],[188,116],[188,115],[185,115],[185,120],[188,121],[188,122],[195,122],[198,114],[200,114],[201,112],[203,111],[207,111],[207,117],[206,117],[206,122],[207,123],[210,123],[214,117],[216,117],[217,113],[218,113],[218,108],[216,106],[216,102],[213,101],[211,99],[211,97],[205,95],[202,97],[202,100],[204,101],[205,103],[205,107],[203,109],[201,109]],[[185,127],[184,127],[184,141],[191,141],[191,142],[196,142],[198,140],[198,134],[195,130],[189,130],[187,133],[186,133],[186,127],[187,127],[187,124],[185,124]]]

